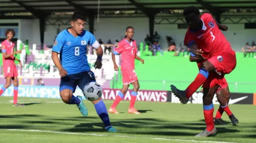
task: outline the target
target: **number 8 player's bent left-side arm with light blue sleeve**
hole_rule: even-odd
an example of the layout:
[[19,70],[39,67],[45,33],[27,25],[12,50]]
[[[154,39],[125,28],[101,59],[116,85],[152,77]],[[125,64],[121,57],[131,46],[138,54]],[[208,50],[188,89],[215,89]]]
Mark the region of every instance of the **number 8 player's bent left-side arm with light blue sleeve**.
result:
[[67,71],[62,67],[61,61],[58,57],[59,53],[62,50],[62,47],[64,46],[63,43],[65,43],[65,35],[60,33],[59,35],[57,35],[54,45],[52,47],[52,61],[59,70],[61,77],[67,75]]

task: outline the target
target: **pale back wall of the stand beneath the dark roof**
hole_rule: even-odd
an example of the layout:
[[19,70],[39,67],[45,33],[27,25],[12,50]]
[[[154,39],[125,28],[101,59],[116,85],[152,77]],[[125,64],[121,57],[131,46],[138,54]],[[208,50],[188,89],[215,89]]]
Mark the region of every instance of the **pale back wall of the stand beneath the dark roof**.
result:
[[[39,20],[0,20],[0,23],[18,22],[19,23],[19,38],[20,40],[29,40],[29,45],[40,44],[40,28]],[[139,44],[144,41],[144,38],[149,34],[148,18],[100,18],[99,23],[95,20],[94,34],[97,38],[101,38],[104,43],[110,39],[114,42],[115,39],[120,40],[125,35],[125,28],[127,26],[134,27],[134,39]],[[246,42],[251,44],[252,41],[256,42],[255,33],[256,29],[244,29],[243,24],[227,24],[228,31],[223,33],[227,37],[231,46],[235,50],[241,50],[241,47]],[[61,25],[61,31],[68,28],[69,25]],[[52,45],[57,32],[57,25],[46,25],[44,33],[44,43]],[[89,29],[89,25],[86,25]],[[160,35],[160,44],[166,49],[168,48],[166,42],[166,35],[171,36],[176,42],[176,45],[183,43],[184,34],[186,29],[178,29],[177,24],[161,24],[155,25],[155,31]],[[234,35],[236,33],[236,35]]]

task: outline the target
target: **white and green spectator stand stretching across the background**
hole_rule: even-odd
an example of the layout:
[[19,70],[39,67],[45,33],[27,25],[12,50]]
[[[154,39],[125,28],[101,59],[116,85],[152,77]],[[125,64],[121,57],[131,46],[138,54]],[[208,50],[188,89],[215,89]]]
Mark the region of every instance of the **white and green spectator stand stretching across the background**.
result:
[[[104,47],[104,46],[102,46]],[[38,47],[36,47],[38,49]],[[21,75],[33,77],[59,77],[59,71],[53,64],[51,49],[28,51],[27,61],[22,68]],[[16,56],[19,57],[20,54]],[[198,69],[195,62],[190,62],[188,57],[174,57],[174,52],[164,52],[161,56],[157,52],[156,56],[151,56],[148,46],[143,50],[143,43],[140,44],[139,55],[145,60],[144,64],[135,61],[135,71],[137,73],[141,89],[169,90],[170,84],[175,84],[179,88],[185,89],[194,80]],[[243,53],[237,53],[237,67],[226,75],[230,92],[253,93],[256,87],[256,68],[253,66],[255,58],[245,58]],[[3,65],[2,53],[0,53],[0,66]],[[88,55],[91,70],[95,72],[97,79],[112,80],[110,88],[122,88],[122,73],[113,70],[111,56],[104,55],[103,67],[95,70],[94,62],[96,55]],[[120,57],[117,57],[117,61]],[[18,63],[16,63],[18,64]],[[119,69],[120,70],[120,69]],[[191,76],[192,75],[192,76]],[[132,86],[130,87],[132,88]],[[201,89],[199,89],[201,90]]]

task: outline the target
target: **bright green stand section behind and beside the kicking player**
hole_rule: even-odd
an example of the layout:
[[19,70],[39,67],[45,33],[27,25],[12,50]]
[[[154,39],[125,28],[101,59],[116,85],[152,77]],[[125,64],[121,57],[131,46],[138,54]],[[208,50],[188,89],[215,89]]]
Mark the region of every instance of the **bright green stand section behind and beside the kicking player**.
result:
[[[165,52],[164,56],[156,57],[141,55],[144,64],[135,62],[140,89],[170,90],[170,84],[185,89],[193,80],[198,69],[195,62],[190,62],[187,57],[174,57],[174,52]],[[253,66],[256,59],[244,58],[243,53],[237,53],[236,69],[226,75],[230,92],[253,93],[255,92],[255,71]],[[122,87],[121,71],[114,76],[112,88]],[[132,86],[131,86],[132,88]]]

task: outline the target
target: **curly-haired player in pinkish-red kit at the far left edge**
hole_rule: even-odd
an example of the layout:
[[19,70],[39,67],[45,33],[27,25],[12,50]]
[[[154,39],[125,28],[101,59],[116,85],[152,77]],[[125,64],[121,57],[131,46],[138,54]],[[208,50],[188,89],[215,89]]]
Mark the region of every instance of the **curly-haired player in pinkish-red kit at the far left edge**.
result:
[[5,85],[0,90],[0,96],[4,91],[11,85],[11,80],[14,83],[14,102],[13,106],[24,106],[17,103],[18,98],[18,86],[19,82],[17,79],[18,71],[15,66],[15,60],[19,61],[20,67],[22,67],[21,61],[14,57],[15,54],[21,53],[21,50],[14,51],[15,44],[11,42],[11,39],[15,36],[13,29],[7,29],[5,32],[6,40],[2,42],[2,53],[3,53],[3,66],[4,66],[4,77],[6,79]]

